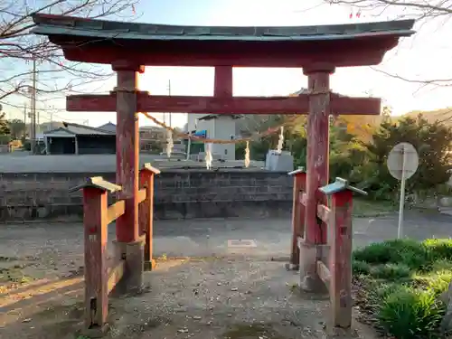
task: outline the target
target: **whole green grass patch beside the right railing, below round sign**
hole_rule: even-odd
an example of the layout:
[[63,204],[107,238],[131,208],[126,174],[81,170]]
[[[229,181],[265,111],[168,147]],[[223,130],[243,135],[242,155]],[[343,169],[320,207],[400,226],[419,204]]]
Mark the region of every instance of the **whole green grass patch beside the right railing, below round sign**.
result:
[[388,240],[353,252],[369,323],[397,339],[441,337],[441,296],[452,279],[452,240]]

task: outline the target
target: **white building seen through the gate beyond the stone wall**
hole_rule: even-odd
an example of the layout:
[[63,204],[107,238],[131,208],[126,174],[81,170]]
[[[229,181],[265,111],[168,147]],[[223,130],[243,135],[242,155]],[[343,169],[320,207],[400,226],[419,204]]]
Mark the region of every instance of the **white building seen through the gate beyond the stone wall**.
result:
[[[232,140],[235,139],[235,120],[240,115],[233,114],[189,114],[188,130],[207,131],[207,138]],[[235,144],[212,144],[212,155],[224,160],[235,160]]]

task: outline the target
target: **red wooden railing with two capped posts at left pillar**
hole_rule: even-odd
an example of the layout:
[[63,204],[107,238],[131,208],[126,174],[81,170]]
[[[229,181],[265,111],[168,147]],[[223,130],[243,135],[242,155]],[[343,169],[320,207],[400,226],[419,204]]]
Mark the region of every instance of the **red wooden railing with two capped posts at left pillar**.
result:
[[[159,173],[147,164],[140,171],[138,222],[140,239],[145,242],[146,269],[155,267],[152,259],[154,176]],[[98,335],[107,329],[108,295],[126,276],[127,258],[116,254],[108,260],[107,248],[108,224],[126,212],[126,202],[120,200],[108,206],[108,193],[117,193],[121,186],[109,183],[101,176],[87,178],[71,192],[79,190],[83,193],[85,330],[89,335]],[[142,271],[145,268],[141,268]]]

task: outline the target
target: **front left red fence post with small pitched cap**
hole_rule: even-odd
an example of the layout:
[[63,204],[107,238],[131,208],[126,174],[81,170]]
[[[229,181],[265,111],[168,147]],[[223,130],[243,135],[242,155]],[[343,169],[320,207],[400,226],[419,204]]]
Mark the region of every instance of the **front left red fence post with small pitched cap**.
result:
[[71,192],[83,190],[85,246],[85,330],[104,333],[108,315],[108,192],[120,189],[102,177],[88,178]]

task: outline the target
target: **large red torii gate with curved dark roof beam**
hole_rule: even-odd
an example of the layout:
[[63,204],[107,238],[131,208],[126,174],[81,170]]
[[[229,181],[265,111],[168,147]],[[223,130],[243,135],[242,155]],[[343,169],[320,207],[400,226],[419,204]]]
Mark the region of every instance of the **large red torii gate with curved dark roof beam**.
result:
[[[118,86],[109,95],[70,96],[67,109],[117,111],[116,184],[122,187],[118,197],[125,201],[125,212],[117,221],[119,244],[140,241],[137,112],[308,112],[306,227],[301,230],[301,223],[294,222],[294,239],[303,235],[303,231],[305,262],[301,274],[307,285],[308,281],[315,281],[316,249],[326,243],[325,225],[317,221],[316,210],[317,204],[326,204],[319,188],[328,184],[329,115],[379,115],[381,108],[380,99],[334,94],[330,89],[330,75],[337,67],[380,63],[400,37],[414,33],[411,30],[414,21],[305,27],[202,27],[119,23],[51,14],[34,14],[33,21],[36,24],[33,33],[47,35],[51,42],[61,46],[66,59],[110,64],[118,72]],[[145,71],[144,65],[214,67],[214,96],[168,97],[139,91],[138,73]],[[233,66],[303,68],[308,92],[298,97],[233,97]],[[299,187],[295,190],[298,192]],[[297,267],[298,261],[298,249],[293,246],[291,264]]]

